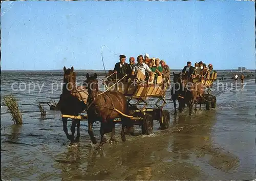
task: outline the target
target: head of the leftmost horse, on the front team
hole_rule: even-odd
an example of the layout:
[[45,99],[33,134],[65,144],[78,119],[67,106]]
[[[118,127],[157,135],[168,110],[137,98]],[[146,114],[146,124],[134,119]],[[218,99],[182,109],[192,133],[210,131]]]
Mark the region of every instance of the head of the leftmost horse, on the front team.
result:
[[63,71],[63,83],[66,85],[66,89],[71,91],[75,88],[76,83],[76,73],[74,72],[74,67],[72,66],[71,69],[66,69],[66,66],[64,66]]

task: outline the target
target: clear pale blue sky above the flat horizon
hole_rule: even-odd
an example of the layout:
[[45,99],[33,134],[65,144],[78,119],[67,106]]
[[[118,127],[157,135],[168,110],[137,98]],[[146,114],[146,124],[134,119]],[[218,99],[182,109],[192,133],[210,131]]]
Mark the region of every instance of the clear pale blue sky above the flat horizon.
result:
[[[182,69],[255,69],[248,1],[1,2],[2,70],[113,70],[120,54],[148,53]],[[102,46],[103,47],[102,49]],[[102,52],[101,52],[102,50]],[[102,57],[101,57],[102,53]]]

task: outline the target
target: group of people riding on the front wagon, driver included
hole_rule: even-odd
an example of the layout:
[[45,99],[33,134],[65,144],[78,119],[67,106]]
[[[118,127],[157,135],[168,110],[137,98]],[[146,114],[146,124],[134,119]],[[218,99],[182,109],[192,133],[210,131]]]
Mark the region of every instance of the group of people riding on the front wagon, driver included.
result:
[[[116,72],[116,78],[122,81],[148,81],[151,83],[169,83],[170,69],[164,60],[159,58],[150,58],[147,53],[137,57],[137,63],[134,57],[129,58],[129,64],[125,62],[125,55],[119,56],[120,62],[115,64],[113,71],[109,71],[109,75]],[[160,66],[161,65],[161,66]],[[124,77],[127,74],[126,77]],[[115,76],[115,75],[114,75]],[[112,79],[115,79],[112,76]]]

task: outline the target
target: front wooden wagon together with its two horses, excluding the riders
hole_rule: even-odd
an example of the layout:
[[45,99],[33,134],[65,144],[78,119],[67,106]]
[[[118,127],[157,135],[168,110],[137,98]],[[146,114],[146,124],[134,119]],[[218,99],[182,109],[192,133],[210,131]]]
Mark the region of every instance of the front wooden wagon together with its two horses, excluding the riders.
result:
[[[88,121],[88,133],[94,144],[97,141],[92,126],[95,121],[100,121],[101,140],[99,147],[103,145],[104,133],[112,132],[110,141],[115,141],[116,123],[122,124],[122,141],[125,141],[125,127],[141,125],[142,133],[150,134],[153,131],[153,120],[158,120],[161,129],[168,128],[170,115],[167,110],[163,110],[166,104],[164,100],[166,84],[136,84],[132,81],[120,82],[120,79],[115,82],[105,81],[106,90],[102,92],[98,89],[99,83],[96,73],[91,76],[87,74],[87,79],[84,81],[84,84],[87,85],[76,87],[74,68],[66,69],[64,67],[63,70],[64,85],[59,105],[63,130],[67,138],[71,140],[71,144],[79,142],[80,121],[85,119]],[[147,99],[150,98],[157,98],[156,103],[148,104]],[[68,119],[72,119],[72,135],[68,133]],[[77,137],[74,140],[75,126],[77,126]]]

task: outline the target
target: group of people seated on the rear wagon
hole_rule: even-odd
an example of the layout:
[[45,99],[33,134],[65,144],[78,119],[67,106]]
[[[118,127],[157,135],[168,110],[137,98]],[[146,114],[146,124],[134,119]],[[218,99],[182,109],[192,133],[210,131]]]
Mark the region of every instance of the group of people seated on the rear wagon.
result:
[[196,62],[195,67],[191,66],[191,62],[188,61],[187,65],[184,66],[184,69],[182,70],[183,74],[186,74],[189,78],[206,78],[209,79],[214,73],[212,64],[208,64],[208,67],[205,63],[202,61]]

